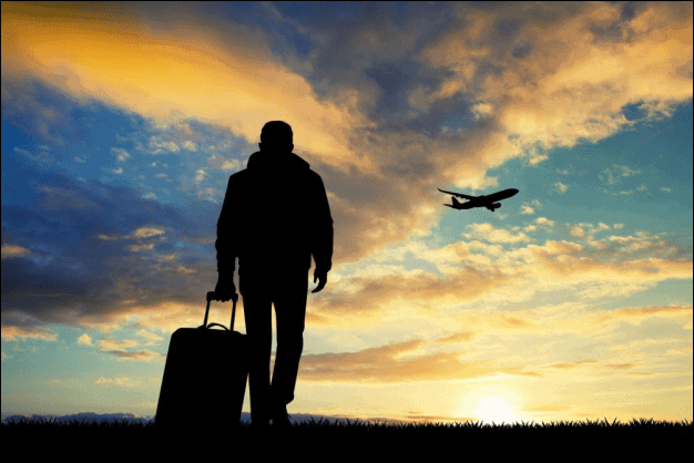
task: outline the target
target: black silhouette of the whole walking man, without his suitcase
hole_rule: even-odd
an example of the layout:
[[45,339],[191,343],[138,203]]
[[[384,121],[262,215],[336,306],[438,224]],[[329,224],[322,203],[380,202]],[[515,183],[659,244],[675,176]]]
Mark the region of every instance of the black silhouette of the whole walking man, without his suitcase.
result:
[[[333,218],[318,174],[294,150],[289,124],[271,121],[261,132],[261,151],[229,177],[217,222],[217,300],[244,299],[249,347],[251,418],[254,424],[288,424],[304,347],[310,258],[316,263],[312,292],[326,282],[333,258]],[[272,384],[272,305],[277,350]]]

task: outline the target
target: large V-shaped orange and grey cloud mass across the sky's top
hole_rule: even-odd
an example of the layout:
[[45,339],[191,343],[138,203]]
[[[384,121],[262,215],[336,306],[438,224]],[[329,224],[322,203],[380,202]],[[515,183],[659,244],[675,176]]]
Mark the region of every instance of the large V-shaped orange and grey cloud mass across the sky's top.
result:
[[[191,147],[186,142],[202,151],[187,120],[226,127],[248,144],[267,120],[290,121],[298,153],[330,191],[341,230],[336,265],[427,233],[440,214],[431,185],[493,187],[487,171],[510,158],[535,163],[551,146],[615,133],[630,123],[621,115],[626,103],[666,112],[670,101],[692,93],[691,80],[673,71],[691,55],[688,10],[672,6],[649,6],[620,22],[631,32],[614,42],[605,42],[594,22],[616,21],[621,9],[593,3],[557,11],[411,3],[397,20],[386,10],[364,14],[366,7],[355,4],[355,17],[326,14],[300,24],[276,11],[273,21],[308,41],[310,53],[278,40],[276,28],[217,21],[228,14],[201,14],[194,4],[109,8],[80,14],[70,7],[42,13],[32,6],[6,8],[3,44],[12,47],[3,47],[3,88],[31,75],[78,102],[96,99],[160,125],[181,125],[183,138],[145,141],[152,154],[177,154]],[[258,4],[248,14],[267,17],[266,9]],[[181,23],[185,41],[180,27],[170,25]],[[61,47],[45,39],[63,35]],[[103,54],[108,62],[85,43],[112,51]],[[622,65],[594,65],[602,61]],[[220,160],[223,169],[241,166]],[[205,172],[207,182],[212,173]],[[213,185],[196,192],[215,204],[222,195]]]

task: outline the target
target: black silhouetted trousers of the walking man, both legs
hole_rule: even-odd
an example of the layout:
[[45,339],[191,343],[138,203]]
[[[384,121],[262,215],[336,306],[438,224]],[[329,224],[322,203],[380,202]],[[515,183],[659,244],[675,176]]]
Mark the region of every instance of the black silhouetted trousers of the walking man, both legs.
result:
[[[244,278],[245,277],[245,278]],[[294,400],[299,360],[304,349],[308,270],[263,284],[239,272],[248,341],[251,419],[266,422],[273,411],[285,410]],[[271,382],[273,342],[272,307],[275,307],[277,348]]]

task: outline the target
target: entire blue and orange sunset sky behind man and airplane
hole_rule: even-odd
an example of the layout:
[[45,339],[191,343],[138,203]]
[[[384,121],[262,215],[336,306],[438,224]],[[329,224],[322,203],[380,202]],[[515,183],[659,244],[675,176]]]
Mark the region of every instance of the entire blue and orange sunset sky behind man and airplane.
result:
[[282,120],[335,227],[290,414],[692,420],[692,2],[2,2],[3,416],[155,414]]

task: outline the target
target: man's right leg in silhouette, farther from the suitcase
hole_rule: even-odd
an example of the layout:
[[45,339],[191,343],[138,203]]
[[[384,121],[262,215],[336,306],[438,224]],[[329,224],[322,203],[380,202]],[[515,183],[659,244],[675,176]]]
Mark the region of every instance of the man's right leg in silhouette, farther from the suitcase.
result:
[[285,286],[275,300],[277,319],[277,351],[273,372],[273,400],[275,412],[286,413],[286,404],[294,400],[294,389],[304,349],[304,321],[308,274]]

